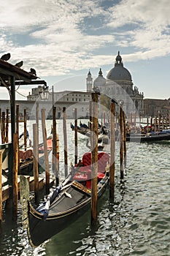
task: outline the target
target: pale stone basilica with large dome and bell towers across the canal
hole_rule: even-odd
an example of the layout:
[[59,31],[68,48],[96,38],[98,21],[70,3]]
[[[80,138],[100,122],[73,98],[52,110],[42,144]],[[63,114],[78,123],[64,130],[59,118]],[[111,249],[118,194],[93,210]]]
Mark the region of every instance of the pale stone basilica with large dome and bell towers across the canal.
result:
[[[139,92],[137,86],[131,78],[131,73],[123,67],[123,60],[118,52],[115,59],[115,66],[108,72],[107,78],[104,78],[101,69],[98,72],[98,78],[94,81],[88,72],[87,91],[93,91],[93,87],[98,87],[101,95],[114,99],[118,105],[123,103],[123,108],[126,113],[144,112],[144,94]],[[90,87],[91,86],[91,87]],[[92,87],[93,86],[93,87]]]

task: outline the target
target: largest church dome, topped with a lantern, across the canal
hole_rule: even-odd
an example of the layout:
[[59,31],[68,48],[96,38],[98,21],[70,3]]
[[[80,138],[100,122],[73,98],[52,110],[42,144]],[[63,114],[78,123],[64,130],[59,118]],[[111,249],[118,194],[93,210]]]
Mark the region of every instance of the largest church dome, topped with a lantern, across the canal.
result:
[[118,51],[118,55],[115,61],[115,67],[113,67],[109,73],[107,74],[107,79],[109,80],[128,80],[131,81],[131,74],[128,72],[128,69],[123,67],[122,58],[120,56],[120,52]]

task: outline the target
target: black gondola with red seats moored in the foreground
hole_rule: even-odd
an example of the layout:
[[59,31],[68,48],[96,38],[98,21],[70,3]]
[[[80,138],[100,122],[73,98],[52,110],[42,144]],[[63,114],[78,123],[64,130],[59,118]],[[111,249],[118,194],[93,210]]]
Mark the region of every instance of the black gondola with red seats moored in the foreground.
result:
[[[78,165],[38,208],[28,201],[28,239],[31,246],[39,246],[47,239],[82,216],[91,202],[91,153],[85,153]],[[98,153],[98,197],[104,193],[109,181],[109,154]],[[26,186],[25,186],[26,187]]]

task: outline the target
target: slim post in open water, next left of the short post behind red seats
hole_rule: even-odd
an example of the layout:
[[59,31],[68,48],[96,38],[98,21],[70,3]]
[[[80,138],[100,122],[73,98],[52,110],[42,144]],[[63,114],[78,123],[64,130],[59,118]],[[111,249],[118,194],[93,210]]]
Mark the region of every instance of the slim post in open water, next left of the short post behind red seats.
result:
[[64,145],[64,170],[65,177],[68,175],[68,160],[67,160],[67,137],[66,137],[66,108],[63,107],[63,145]]

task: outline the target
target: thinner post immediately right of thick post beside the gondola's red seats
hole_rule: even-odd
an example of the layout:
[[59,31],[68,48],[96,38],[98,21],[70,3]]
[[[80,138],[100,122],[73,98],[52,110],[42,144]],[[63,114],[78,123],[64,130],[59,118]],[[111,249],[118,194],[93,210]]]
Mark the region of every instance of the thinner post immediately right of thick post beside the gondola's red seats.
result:
[[120,122],[120,178],[124,178],[123,173],[123,106],[120,105],[120,116],[119,116],[119,122]]

